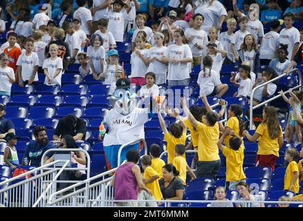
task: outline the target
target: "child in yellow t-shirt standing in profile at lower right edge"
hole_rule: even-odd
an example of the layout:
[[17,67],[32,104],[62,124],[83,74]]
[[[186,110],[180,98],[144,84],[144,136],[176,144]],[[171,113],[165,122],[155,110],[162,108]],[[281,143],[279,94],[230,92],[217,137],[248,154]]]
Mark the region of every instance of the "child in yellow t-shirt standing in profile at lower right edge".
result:
[[299,193],[299,169],[296,162],[298,159],[299,151],[296,148],[288,148],[286,150],[284,160],[288,161],[289,164],[284,177],[284,191]]

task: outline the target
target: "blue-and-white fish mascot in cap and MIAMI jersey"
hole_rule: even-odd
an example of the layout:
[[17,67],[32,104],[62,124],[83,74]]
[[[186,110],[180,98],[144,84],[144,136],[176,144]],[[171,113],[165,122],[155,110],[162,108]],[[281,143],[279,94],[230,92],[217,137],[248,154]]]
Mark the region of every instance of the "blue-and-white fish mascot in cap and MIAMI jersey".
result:
[[[104,117],[99,134],[99,139],[104,136],[105,160],[109,170],[118,166],[118,151],[122,144],[145,138],[144,124],[156,112],[156,101],[154,99],[150,102],[151,107],[149,108],[138,108],[136,106],[138,97],[132,90],[129,79],[119,79],[116,82],[116,87],[111,96],[113,108]],[[121,163],[126,160],[126,153],[129,149],[136,148],[140,151],[142,147],[142,142],[125,147],[121,153]]]

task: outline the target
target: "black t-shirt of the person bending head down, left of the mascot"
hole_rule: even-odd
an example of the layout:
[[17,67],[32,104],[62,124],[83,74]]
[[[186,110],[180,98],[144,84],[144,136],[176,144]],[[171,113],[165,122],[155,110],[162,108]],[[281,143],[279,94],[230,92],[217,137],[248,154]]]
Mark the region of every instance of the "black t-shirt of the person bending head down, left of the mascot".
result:
[[65,121],[65,117],[59,120],[54,135],[57,135],[59,137],[64,137],[65,135],[75,136],[77,135],[77,133],[83,133],[84,137],[82,138],[82,140],[85,140],[86,123],[84,119],[80,119],[77,117],[77,123],[75,128],[73,129],[66,128],[64,121]]

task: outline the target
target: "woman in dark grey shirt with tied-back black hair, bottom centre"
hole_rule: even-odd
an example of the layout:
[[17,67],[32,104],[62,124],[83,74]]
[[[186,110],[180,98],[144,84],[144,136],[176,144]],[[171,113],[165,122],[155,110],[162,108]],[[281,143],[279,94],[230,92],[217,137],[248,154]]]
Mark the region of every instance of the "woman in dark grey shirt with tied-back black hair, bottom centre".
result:
[[163,166],[163,178],[159,180],[160,190],[165,200],[183,200],[184,186],[179,172],[173,164]]

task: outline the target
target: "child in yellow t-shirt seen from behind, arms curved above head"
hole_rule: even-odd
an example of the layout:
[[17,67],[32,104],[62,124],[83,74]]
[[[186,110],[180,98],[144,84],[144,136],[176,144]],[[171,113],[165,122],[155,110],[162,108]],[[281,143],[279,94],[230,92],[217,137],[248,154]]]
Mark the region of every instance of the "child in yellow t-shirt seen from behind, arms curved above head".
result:
[[[229,147],[223,145],[226,136],[231,135],[229,139]],[[237,190],[239,182],[246,182],[246,175],[243,170],[244,162],[244,146],[243,140],[235,131],[227,128],[223,135],[220,137],[217,145],[226,157],[226,189]]]

